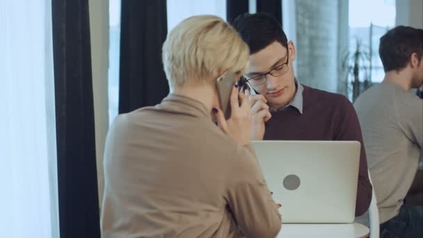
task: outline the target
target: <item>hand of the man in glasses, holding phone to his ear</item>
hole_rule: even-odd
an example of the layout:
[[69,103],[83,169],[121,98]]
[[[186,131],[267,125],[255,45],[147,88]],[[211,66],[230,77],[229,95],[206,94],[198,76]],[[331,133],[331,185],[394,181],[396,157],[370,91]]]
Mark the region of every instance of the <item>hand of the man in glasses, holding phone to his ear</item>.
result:
[[250,100],[251,107],[251,118],[253,120],[253,126],[251,127],[251,140],[262,141],[264,137],[264,122],[267,122],[272,116],[269,111],[269,105],[263,95],[250,95],[250,90],[245,91],[246,97]]

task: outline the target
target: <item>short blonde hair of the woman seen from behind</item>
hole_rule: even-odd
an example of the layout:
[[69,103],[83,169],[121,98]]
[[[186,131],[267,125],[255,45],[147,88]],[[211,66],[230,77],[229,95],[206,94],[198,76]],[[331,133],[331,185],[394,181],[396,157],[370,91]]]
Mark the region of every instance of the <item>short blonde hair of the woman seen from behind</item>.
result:
[[210,84],[218,70],[244,74],[250,51],[237,31],[220,17],[199,15],[184,19],[166,38],[163,67],[170,88]]

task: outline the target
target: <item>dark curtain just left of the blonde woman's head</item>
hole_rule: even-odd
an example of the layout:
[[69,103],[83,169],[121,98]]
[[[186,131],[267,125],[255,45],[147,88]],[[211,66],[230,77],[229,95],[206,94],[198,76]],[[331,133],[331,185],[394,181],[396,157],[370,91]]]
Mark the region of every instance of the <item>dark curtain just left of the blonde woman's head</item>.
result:
[[169,93],[161,63],[166,0],[123,0],[120,26],[119,113],[152,106]]

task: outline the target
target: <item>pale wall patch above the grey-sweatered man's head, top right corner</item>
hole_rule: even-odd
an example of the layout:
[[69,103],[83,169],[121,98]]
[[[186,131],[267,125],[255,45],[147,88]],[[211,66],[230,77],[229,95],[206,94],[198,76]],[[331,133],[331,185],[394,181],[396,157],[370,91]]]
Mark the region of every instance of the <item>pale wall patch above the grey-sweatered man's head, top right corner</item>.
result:
[[397,25],[423,29],[423,0],[397,0]]

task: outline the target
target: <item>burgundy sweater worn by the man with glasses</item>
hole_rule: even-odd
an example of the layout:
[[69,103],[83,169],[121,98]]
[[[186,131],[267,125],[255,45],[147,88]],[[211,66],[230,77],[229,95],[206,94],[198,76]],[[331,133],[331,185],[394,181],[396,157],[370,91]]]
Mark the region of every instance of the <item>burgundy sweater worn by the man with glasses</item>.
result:
[[[293,106],[271,112],[264,140],[359,141],[362,135],[353,104],[343,95],[304,86],[303,114]],[[312,159],[312,158],[310,158]],[[356,216],[364,214],[372,200],[367,159],[361,147]]]

